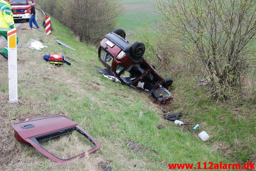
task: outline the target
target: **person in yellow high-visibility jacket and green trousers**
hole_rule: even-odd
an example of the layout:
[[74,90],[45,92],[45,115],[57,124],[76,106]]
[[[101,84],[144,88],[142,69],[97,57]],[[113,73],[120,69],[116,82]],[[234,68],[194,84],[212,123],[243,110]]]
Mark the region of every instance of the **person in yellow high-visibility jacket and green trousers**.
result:
[[[13,28],[14,19],[11,12],[11,1],[12,0],[0,0],[0,34],[7,40],[7,32]],[[17,38],[17,44],[19,39]],[[6,46],[0,52],[0,54],[8,59],[8,47]]]

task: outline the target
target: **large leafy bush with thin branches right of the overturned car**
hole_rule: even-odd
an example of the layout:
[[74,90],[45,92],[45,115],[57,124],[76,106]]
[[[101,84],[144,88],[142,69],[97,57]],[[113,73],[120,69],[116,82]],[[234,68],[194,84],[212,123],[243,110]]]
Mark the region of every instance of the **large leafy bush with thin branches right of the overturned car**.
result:
[[255,67],[256,1],[157,0],[156,6],[162,14],[162,64],[198,66],[195,71],[206,72],[218,99],[244,92],[242,80],[252,80],[247,73]]

